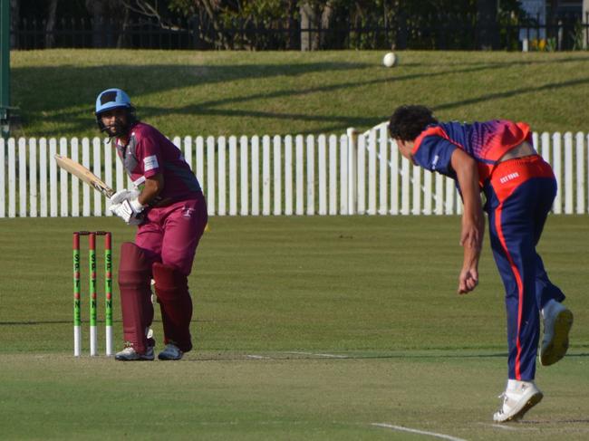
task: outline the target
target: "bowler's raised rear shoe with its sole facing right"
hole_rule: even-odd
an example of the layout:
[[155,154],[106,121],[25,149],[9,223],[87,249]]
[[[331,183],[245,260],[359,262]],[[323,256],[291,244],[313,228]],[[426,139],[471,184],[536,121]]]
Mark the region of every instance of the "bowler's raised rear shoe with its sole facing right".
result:
[[562,303],[551,300],[542,309],[544,338],[540,347],[540,364],[550,366],[565,357],[568,333],[573,326],[573,312]]

